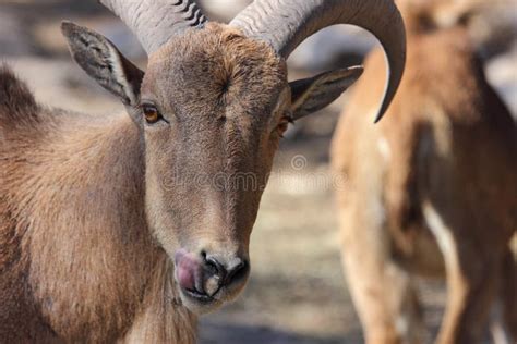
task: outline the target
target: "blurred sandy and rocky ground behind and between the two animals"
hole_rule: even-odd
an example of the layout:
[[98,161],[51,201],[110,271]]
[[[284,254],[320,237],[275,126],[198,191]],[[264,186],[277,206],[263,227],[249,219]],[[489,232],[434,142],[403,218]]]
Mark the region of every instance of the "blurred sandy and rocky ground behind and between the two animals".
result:
[[[420,0],[419,0],[420,1]],[[492,85],[517,113],[517,2],[494,2],[470,27]],[[212,20],[229,21],[250,1],[199,0]],[[496,4],[496,5],[495,5]],[[46,105],[92,114],[123,111],[70,58],[62,20],[100,32],[140,66],[146,57],[125,26],[95,0],[0,0],[0,60]],[[330,27],[290,58],[290,78],[361,63],[375,40],[354,27]],[[252,275],[235,304],[201,321],[201,343],[361,343],[341,272],[328,148],[344,95],[291,127],[252,235]],[[421,281],[428,328],[435,332],[445,290]]]

